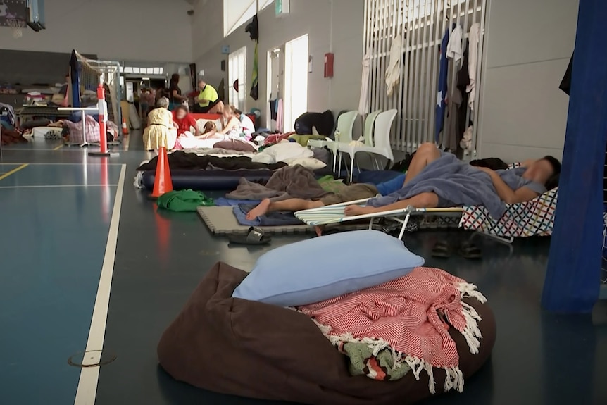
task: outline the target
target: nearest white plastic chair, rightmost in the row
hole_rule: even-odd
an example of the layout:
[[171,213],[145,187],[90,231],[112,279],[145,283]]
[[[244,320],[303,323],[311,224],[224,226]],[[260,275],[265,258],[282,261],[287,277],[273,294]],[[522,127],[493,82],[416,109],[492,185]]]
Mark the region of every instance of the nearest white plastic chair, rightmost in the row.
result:
[[[350,156],[350,182],[353,180],[354,160],[358,152],[377,154],[386,157],[389,161],[394,161],[394,154],[390,146],[390,128],[392,127],[396,113],[398,111],[393,109],[377,115],[377,118],[375,118],[375,129],[373,130],[373,144],[371,146],[367,142],[364,145],[350,145],[340,142],[338,147],[339,156],[342,154]],[[377,164],[377,161],[375,163]]]

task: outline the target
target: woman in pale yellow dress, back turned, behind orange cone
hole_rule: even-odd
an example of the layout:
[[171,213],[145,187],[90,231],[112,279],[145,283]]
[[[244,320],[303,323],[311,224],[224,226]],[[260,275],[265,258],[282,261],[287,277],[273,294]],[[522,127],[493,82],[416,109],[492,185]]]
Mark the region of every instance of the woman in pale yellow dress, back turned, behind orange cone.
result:
[[173,114],[168,111],[168,106],[168,99],[162,97],[158,100],[157,108],[149,112],[148,126],[143,136],[146,151],[156,151],[161,147],[170,150],[175,147],[177,127],[173,123]]

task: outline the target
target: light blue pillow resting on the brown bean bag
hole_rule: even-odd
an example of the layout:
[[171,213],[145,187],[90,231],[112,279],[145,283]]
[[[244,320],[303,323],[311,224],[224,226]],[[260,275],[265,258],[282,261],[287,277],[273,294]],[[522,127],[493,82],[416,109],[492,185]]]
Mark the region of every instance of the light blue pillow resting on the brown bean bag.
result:
[[337,233],[263,254],[232,297],[280,306],[313,304],[394,280],[423,263],[384,232]]

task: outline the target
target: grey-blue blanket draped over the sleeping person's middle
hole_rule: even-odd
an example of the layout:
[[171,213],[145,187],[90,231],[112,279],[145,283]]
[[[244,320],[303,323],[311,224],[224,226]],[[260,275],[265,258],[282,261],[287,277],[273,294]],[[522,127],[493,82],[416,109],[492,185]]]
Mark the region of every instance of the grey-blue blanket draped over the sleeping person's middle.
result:
[[482,205],[489,214],[499,219],[506,210],[487,173],[458,160],[455,155],[442,153],[411,182],[387,196],[368,201],[370,206],[387,206],[423,192],[434,192],[456,206]]

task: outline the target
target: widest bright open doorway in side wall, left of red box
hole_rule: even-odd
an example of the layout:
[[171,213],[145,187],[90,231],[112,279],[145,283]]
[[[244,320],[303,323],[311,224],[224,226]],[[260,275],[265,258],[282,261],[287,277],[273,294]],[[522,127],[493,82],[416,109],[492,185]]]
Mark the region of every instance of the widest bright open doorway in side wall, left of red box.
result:
[[308,35],[284,44],[284,132],[308,111]]

